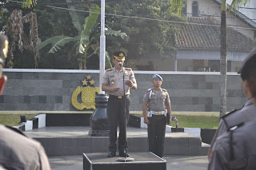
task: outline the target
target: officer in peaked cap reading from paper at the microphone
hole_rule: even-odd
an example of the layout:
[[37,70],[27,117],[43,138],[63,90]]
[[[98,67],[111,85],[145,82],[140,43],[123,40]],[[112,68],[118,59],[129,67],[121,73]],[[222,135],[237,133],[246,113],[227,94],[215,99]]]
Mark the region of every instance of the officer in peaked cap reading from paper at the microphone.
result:
[[[130,111],[130,89],[137,89],[134,72],[130,68],[124,68],[126,53],[117,51],[114,53],[114,68],[107,69],[103,76],[102,90],[109,93],[109,101],[106,107],[108,124],[110,127],[109,157],[116,155],[117,150],[117,126],[119,125],[118,151],[119,156],[129,156],[126,153],[126,125]],[[125,90],[123,89],[123,77]],[[126,106],[124,105],[126,104]],[[125,107],[124,107],[125,106]],[[126,109],[125,109],[126,108]]]

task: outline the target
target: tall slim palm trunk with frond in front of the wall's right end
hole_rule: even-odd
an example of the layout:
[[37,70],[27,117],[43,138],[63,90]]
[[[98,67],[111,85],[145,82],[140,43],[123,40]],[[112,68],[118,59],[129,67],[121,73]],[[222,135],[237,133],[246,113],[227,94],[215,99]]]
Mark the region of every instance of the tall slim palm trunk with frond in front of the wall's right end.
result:
[[[250,0],[233,0],[230,10],[239,9],[240,6],[245,6]],[[222,14],[221,14],[221,58],[220,58],[220,73],[221,73],[221,106],[220,116],[226,114],[226,0],[222,0]]]

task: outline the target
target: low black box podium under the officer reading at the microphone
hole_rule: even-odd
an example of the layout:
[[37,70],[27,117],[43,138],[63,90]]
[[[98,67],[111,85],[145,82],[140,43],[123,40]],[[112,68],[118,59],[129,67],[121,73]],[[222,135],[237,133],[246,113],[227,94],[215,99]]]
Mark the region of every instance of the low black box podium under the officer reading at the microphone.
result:
[[106,153],[83,154],[84,170],[166,170],[166,160],[156,156],[152,152],[131,152],[133,161],[120,162],[120,157],[107,157]]

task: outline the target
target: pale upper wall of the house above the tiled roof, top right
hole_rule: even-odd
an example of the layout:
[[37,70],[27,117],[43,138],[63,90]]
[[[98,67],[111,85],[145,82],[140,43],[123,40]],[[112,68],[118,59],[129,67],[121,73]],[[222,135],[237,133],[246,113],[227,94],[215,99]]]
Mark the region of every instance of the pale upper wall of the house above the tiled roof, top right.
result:
[[[187,16],[192,17],[192,2],[198,2],[199,8],[199,16],[202,15],[214,15],[213,17],[217,19],[219,22],[221,21],[221,6],[215,3],[212,0],[187,0]],[[202,17],[202,16],[200,16]],[[226,25],[227,26],[242,26],[246,28],[250,28],[246,25],[245,22],[242,22],[239,18],[236,18],[234,14],[227,13],[226,14]],[[234,28],[234,27],[233,27]],[[242,34],[245,34],[249,38],[254,38],[254,30],[251,29],[242,29],[242,28],[234,28],[238,30]]]

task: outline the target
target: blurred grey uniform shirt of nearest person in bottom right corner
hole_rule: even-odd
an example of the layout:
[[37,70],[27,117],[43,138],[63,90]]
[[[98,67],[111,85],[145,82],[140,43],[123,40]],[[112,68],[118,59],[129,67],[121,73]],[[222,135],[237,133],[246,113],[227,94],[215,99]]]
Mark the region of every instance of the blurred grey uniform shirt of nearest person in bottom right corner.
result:
[[[218,136],[214,144],[212,156],[208,166],[209,170],[256,168],[256,121],[246,122],[244,125]],[[231,136],[232,135],[232,141]],[[230,144],[233,150],[233,159],[230,155]],[[231,152],[232,153],[232,152]]]

